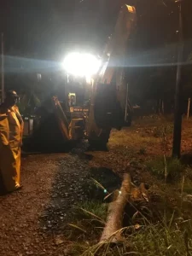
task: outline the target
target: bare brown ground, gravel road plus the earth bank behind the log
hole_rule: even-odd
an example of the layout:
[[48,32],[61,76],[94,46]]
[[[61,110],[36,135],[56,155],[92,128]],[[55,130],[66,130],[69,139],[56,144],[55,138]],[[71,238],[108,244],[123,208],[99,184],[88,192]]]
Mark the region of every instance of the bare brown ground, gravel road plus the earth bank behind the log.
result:
[[[191,160],[192,122],[183,126],[182,150]],[[101,198],[94,178],[108,191],[120,185],[124,172],[135,184],[158,186],[145,163],[172,152],[172,122],[167,119],[137,120],[131,128],[112,131],[109,151],[64,154],[31,154],[22,158],[23,189],[0,196],[0,251],[2,256],[70,255],[67,224],[74,209],[93,197]],[[190,163],[189,163],[190,164]],[[103,194],[103,195],[102,195]]]

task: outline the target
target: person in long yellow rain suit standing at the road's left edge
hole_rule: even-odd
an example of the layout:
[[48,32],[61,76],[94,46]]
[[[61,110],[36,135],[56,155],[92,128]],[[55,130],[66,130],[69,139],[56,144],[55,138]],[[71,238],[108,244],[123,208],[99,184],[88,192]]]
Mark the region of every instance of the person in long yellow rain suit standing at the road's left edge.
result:
[[7,192],[21,188],[20,146],[23,120],[15,105],[18,98],[14,90],[9,90],[0,106],[0,172]]

